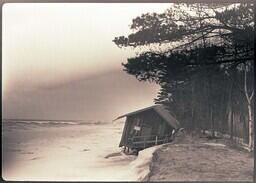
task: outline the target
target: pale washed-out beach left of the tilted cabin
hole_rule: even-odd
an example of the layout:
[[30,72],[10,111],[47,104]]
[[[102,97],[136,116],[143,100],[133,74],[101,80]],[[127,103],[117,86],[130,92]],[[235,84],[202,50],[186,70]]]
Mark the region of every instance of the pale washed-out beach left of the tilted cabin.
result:
[[136,180],[130,168],[136,157],[120,153],[118,147],[122,128],[123,123],[55,127],[20,124],[4,129],[3,178]]

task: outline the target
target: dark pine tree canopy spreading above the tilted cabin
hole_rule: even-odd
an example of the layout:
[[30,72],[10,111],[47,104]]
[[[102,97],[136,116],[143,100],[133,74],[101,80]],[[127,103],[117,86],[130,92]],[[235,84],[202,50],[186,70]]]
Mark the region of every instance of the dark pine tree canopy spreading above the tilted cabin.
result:
[[[214,121],[230,121],[237,106],[246,110],[239,88],[247,83],[246,68],[246,92],[253,90],[253,4],[173,4],[164,13],[134,18],[130,28],[130,35],[113,42],[141,48],[122,65],[138,80],[161,86],[156,103],[169,106],[178,118],[189,113],[201,128],[211,121],[212,129]],[[226,126],[231,128],[230,122]]]

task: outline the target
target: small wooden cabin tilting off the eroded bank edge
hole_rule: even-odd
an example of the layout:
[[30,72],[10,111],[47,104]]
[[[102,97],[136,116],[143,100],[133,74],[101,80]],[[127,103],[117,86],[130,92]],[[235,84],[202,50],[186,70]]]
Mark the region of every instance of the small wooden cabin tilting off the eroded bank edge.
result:
[[[170,142],[180,123],[163,105],[154,105],[119,116],[126,117],[119,147],[142,150]],[[116,120],[117,120],[116,119]]]

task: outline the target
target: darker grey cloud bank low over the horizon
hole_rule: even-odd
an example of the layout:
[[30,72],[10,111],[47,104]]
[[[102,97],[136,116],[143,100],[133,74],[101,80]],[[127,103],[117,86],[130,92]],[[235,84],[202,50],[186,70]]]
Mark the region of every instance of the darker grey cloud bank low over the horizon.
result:
[[14,92],[4,100],[3,116],[110,121],[152,105],[157,91],[154,84],[138,82],[123,71],[112,71],[56,87]]

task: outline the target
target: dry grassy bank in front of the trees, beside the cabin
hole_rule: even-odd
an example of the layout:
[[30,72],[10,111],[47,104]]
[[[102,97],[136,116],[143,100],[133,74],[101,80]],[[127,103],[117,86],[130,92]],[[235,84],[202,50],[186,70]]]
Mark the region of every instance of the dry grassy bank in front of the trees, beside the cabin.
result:
[[252,181],[253,156],[227,140],[187,135],[159,149],[151,170],[150,181]]

